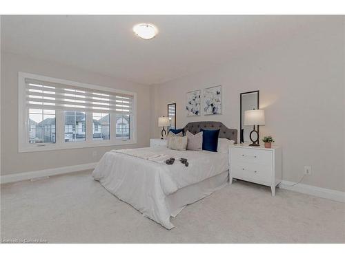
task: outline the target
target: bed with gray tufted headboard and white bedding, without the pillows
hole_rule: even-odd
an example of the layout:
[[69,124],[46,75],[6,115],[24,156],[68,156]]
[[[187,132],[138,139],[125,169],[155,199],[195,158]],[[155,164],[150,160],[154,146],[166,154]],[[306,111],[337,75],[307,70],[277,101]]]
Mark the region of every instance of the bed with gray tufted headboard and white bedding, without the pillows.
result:
[[[221,122],[190,122],[184,131],[220,129],[219,138],[237,142],[237,130]],[[164,163],[167,157],[175,163]],[[179,158],[187,158],[184,166]],[[110,193],[167,229],[170,217],[228,184],[228,153],[175,151],[166,147],[113,150],[105,153],[92,176]]]

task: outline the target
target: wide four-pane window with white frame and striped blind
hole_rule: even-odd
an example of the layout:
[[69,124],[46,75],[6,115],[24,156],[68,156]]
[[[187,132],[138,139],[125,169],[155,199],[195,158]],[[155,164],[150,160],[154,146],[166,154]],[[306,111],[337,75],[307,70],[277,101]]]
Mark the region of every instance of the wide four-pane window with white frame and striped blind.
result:
[[19,73],[19,151],[136,143],[136,94]]

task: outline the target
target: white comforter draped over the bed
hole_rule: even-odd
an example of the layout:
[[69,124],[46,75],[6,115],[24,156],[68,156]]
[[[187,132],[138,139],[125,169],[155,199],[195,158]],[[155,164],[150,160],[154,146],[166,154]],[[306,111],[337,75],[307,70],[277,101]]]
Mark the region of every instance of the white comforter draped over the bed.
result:
[[[170,157],[175,163],[165,164]],[[187,158],[189,166],[179,158]],[[92,176],[120,200],[171,229],[166,196],[228,169],[228,154],[152,147],[107,152]]]

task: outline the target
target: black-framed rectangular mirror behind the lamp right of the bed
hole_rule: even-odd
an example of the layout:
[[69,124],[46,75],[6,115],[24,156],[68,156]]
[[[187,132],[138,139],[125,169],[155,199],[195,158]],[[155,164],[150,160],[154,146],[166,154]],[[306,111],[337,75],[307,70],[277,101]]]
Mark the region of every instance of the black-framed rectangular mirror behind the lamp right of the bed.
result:
[[[250,131],[253,130],[252,125],[244,125],[244,111],[259,109],[259,91],[244,92],[240,94],[239,98],[240,105],[240,129],[239,129],[239,142],[251,142],[249,138]],[[257,132],[259,133],[259,126],[257,126]]]

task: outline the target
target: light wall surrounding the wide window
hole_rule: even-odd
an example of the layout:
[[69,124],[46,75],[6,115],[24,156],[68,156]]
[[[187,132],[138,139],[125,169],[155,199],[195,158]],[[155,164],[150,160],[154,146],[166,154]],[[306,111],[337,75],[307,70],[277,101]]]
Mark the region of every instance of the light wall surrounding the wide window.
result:
[[[97,162],[103,153],[115,147],[95,147],[59,151],[18,152],[18,72],[28,72],[137,92],[137,144],[126,147],[147,147],[150,136],[149,87],[103,76],[57,63],[1,53],[1,175],[53,169]],[[120,148],[119,146],[116,147]],[[97,151],[95,157],[92,152]]]

